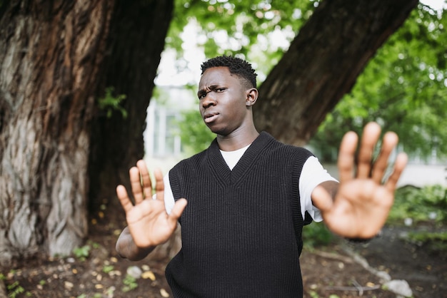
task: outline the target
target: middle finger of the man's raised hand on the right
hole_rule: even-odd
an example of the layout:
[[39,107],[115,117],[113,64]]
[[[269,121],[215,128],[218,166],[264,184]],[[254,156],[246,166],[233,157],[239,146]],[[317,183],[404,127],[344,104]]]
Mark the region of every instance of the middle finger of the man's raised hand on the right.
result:
[[358,178],[369,178],[371,174],[371,160],[373,150],[381,135],[381,127],[374,122],[366,124],[361,138],[360,151],[358,152]]

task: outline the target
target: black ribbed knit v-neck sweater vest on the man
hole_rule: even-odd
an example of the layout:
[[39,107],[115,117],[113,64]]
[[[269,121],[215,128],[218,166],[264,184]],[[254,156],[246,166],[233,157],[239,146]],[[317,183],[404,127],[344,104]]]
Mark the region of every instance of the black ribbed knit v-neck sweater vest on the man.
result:
[[169,172],[174,198],[188,200],[166,268],[174,297],[302,297],[298,180],[309,156],[261,133],[232,171],[214,140]]

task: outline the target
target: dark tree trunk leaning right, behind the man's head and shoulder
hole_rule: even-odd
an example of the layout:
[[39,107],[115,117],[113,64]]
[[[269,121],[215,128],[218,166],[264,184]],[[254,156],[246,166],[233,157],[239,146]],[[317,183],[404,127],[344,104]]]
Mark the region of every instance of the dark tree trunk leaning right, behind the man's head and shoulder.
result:
[[305,144],[417,4],[322,1],[259,88],[256,127],[284,143]]

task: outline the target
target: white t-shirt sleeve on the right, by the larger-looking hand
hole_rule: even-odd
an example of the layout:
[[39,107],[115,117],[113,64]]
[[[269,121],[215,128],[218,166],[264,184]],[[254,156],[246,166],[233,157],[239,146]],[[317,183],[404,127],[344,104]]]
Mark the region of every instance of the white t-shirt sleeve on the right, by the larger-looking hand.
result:
[[298,183],[301,200],[301,215],[303,215],[303,218],[304,213],[307,211],[316,222],[321,222],[323,220],[320,210],[312,205],[311,195],[313,189],[324,181],[337,180],[323,168],[323,165],[318,161],[318,158],[311,156],[303,165],[303,170],[301,170],[301,176]]

